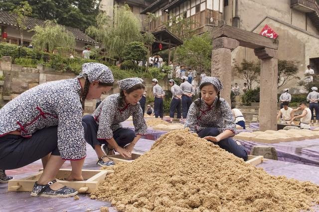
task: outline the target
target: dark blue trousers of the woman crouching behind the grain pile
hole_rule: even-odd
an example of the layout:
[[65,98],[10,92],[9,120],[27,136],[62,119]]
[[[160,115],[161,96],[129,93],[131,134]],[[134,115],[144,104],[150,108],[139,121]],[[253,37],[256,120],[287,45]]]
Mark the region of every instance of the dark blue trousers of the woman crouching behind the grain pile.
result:
[[[219,135],[219,131],[215,127],[208,127],[206,129],[200,130],[198,136],[203,138],[205,136],[217,136]],[[242,145],[238,145],[232,138],[225,138],[220,140],[219,142],[213,142],[214,144],[218,145],[220,148],[225,149],[227,152],[233,153],[239,158],[247,160],[248,155],[246,150]]]

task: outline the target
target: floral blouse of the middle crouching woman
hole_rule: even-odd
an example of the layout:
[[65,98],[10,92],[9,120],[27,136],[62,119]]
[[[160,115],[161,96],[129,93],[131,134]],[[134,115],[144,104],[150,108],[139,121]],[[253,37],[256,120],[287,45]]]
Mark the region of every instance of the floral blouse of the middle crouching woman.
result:
[[105,98],[103,102],[93,112],[93,116],[99,125],[97,138],[111,139],[113,132],[122,128],[121,122],[133,116],[135,132],[140,135],[147,133],[147,125],[143,116],[140,103],[134,105],[127,104],[119,108],[120,94],[113,94]]

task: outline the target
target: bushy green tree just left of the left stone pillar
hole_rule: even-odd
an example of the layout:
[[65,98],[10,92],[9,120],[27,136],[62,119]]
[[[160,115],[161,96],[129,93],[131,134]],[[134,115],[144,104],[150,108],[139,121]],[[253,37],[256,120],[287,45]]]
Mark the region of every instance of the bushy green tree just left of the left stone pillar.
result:
[[175,51],[175,60],[187,66],[198,67],[199,71],[211,69],[212,39],[206,32],[201,36],[193,35]]

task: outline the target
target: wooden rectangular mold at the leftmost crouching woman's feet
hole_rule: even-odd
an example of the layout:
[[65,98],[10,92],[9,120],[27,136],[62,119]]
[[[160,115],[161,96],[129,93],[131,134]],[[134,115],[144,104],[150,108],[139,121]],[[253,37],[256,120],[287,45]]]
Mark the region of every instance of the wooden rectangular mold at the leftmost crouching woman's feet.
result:
[[[38,173],[22,178],[12,179],[8,182],[8,191],[19,191],[19,192],[31,192],[33,185],[39,180],[43,173],[40,170]],[[71,169],[60,169],[56,175],[57,182],[64,186],[76,189],[79,193],[92,193],[103,182],[106,175],[113,173],[110,170],[82,170],[82,177],[84,181],[66,181],[59,180],[67,178],[71,173]]]

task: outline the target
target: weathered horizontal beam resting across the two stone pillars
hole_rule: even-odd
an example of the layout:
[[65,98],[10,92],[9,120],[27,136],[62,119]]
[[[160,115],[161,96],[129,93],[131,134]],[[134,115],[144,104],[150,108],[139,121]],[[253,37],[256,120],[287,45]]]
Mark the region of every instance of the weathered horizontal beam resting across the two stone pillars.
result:
[[[213,39],[219,37],[229,37],[239,41],[239,45],[252,49],[256,48],[270,48],[278,49],[278,40],[259,35],[254,32],[249,32],[243,29],[228,25],[220,25],[218,27],[211,27],[210,35]],[[214,45],[214,44],[213,44]]]

